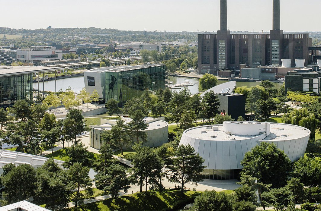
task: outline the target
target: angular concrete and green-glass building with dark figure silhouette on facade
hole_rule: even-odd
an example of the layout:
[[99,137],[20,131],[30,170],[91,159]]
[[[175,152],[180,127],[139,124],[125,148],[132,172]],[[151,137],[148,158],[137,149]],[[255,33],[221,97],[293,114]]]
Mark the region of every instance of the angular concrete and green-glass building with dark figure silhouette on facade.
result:
[[156,92],[165,88],[165,65],[137,65],[104,67],[84,72],[85,87],[96,89],[106,102],[113,98],[122,106],[126,101],[140,97],[144,90]]

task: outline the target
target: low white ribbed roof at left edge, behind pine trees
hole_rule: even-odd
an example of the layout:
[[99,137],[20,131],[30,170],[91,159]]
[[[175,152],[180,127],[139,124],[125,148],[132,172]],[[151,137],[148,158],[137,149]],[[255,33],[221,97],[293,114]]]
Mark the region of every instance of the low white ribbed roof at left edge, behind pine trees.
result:
[[[22,152],[0,150],[0,168],[9,163],[13,163],[15,165],[30,164],[31,166],[41,166],[48,159],[49,158],[37,155],[30,155]],[[62,165],[64,161],[55,160],[55,163],[57,163],[58,165]]]

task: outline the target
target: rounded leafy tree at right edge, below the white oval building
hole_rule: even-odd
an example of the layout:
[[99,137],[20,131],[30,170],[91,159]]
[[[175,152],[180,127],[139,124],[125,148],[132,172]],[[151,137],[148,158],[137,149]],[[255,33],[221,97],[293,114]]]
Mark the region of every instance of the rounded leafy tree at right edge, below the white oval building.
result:
[[321,164],[315,159],[299,158],[293,164],[293,176],[305,186],[321,185]]

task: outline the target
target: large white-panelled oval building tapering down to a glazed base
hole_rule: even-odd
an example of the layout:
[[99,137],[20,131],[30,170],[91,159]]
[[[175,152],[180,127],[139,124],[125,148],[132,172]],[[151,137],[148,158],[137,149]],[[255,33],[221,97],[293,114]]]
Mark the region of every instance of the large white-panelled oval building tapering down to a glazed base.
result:
[[234,179],[245,153],[257,144],[273,142],[293,162],[304,156],[309,136],[308,129],[296,125],[231,121],[187,129],[179,144],[192,145],[203,157],[204,178]]

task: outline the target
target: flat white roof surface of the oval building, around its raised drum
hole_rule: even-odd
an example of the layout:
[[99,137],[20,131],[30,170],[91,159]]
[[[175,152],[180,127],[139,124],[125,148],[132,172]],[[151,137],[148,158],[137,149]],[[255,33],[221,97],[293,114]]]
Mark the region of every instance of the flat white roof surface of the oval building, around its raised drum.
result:
[[[261,123],[261,124],[265,124],[265,123]],[[269,124],[270,124],[270,135],[266,136],[264,139],[259,141],[285,141],[285,140],[303,138],[309,134],[309,130],[300,126],[281,124],[281,123],[269,123]],[[231,140],[238,141],[238,140],[245,140],[245,139],[250,139],[258,136],[258,135],[235,135],[235,134],[228,135],[223,130],[223,125],[216,125],[216,126],[218,126],[218,130],[213,130],[213,125],[200,126],[200,127],[195,127],[195,128],[186,130],[185,134],[192,138],[209,140],[209,141],[231,141]]]

